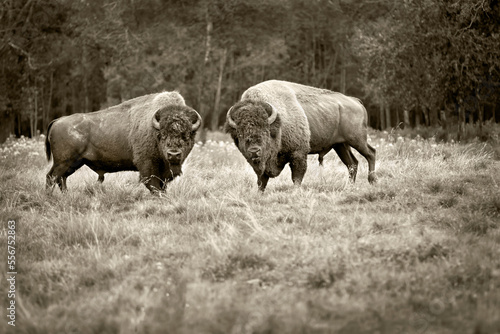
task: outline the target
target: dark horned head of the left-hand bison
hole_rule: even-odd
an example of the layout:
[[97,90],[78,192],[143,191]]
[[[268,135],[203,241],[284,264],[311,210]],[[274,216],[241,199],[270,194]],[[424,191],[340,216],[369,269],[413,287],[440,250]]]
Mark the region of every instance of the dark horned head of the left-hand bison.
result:
[[171,105],[156,111],[152,119],[157,131],[158,148],[170,165],[173,176],[181,174],[181,165],[194,145],[201,117],[183,105]]

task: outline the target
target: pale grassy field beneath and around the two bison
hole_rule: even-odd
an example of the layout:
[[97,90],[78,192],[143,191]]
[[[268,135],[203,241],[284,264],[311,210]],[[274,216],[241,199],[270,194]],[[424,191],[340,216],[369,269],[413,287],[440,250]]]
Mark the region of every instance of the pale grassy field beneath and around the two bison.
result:
[[[264,194],[209,134],[155,197],[86,167],[45,191],[43,138],[0,150],[1,261],[17,222],[16,327],[1,333],[499,333],[500,150],[370,133],[379,181],[334,152]],[[2,266],[5,268],[6,266]]]

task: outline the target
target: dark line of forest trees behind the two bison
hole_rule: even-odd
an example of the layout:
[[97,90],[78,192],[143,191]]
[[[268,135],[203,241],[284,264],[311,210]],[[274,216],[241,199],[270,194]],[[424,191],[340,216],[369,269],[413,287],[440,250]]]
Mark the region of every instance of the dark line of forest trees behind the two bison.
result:
[[0,6],[0,142],[174,89],[215,130],[245,89],[269,79],[359,97],[377,129],[500,122],[498,0]]

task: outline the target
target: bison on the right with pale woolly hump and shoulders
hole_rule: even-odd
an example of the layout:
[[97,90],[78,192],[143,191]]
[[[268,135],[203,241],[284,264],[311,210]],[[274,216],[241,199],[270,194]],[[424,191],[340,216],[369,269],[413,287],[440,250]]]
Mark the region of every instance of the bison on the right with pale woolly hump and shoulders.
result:
[[356,180],[354,147],[366,158],[368,181],[375,182],[375,149],[367,143],[367,112],[354,97],[287,81],[270,80],[247,89],[229,109],[225,130],[257,174],[259,190],[290,163],[292,180],[300,185],[307,155],[331,149]]

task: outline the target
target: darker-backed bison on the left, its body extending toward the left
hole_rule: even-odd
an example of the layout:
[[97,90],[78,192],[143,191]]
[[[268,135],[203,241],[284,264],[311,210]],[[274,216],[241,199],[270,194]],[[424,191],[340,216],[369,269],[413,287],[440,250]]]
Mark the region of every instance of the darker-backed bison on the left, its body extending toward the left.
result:
[[47,159],[54,164],[47,188],[66,190],[66,178],[83,165],[104,181],[105,173],[139,171],[151,191],[182,173],[201,117],[178,92],[137,97],[87,114],[53,120],[47,129]]

